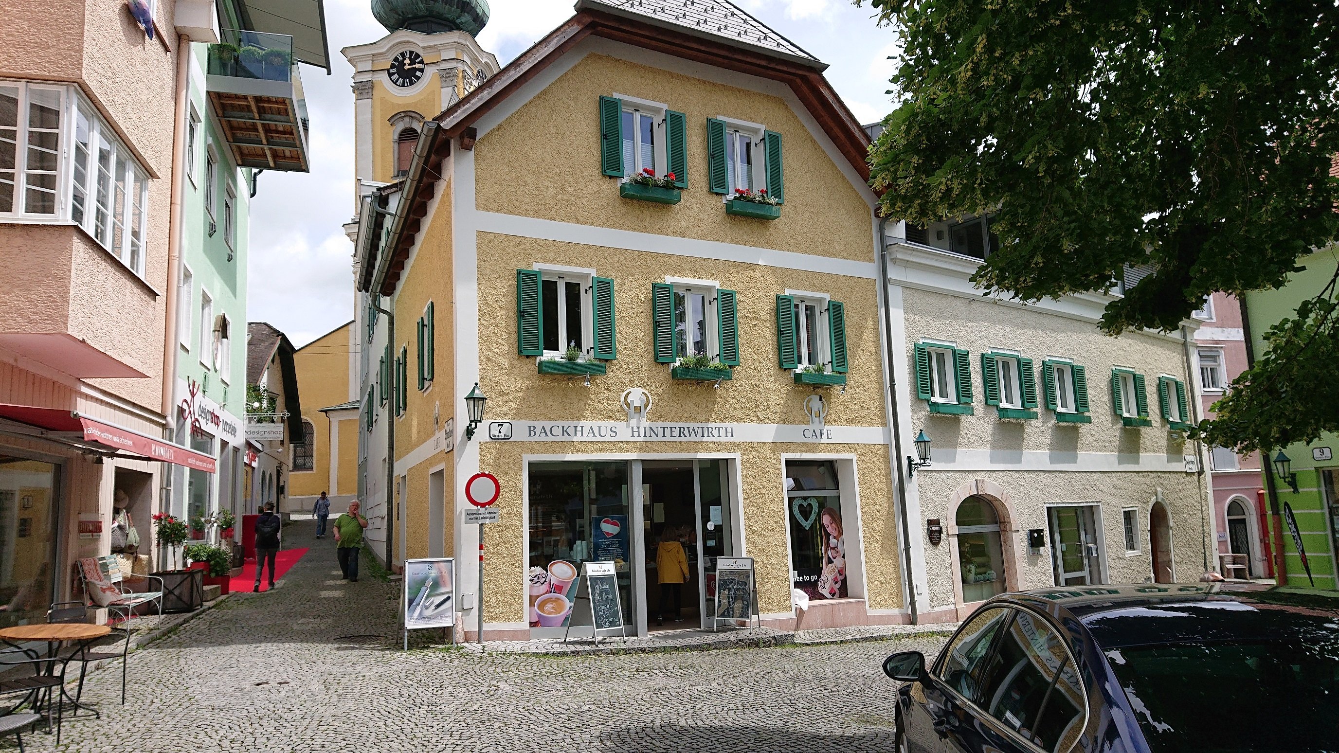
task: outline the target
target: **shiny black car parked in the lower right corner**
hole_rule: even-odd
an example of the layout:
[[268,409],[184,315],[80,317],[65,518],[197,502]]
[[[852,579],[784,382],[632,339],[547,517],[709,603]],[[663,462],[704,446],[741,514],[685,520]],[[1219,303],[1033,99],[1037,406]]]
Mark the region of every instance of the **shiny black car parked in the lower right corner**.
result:
[[884,662],[898,753],[1339,750],[1339,592],[1236,583],[1004,594],[932,667]]

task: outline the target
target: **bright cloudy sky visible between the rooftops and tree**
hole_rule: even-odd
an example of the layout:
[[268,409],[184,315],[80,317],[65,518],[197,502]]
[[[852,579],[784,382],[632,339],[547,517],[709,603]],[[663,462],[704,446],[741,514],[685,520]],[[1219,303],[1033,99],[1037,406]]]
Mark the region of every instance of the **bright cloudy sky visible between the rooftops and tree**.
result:
[[[734,0],[829,63],[828,80],[862,123],[892,109],[886,94],[896,52],[892,29],[850,0]],[[265,173],[252,200],[248,319],[269,322],[301,347],[353,316],[353,70],[341,47],[386,35],[368,0],[325,0],[332,75],[303,67],[311,115],[311,173]],[[479,44],[511,62],[572,15],[569,0],[490,0]]]

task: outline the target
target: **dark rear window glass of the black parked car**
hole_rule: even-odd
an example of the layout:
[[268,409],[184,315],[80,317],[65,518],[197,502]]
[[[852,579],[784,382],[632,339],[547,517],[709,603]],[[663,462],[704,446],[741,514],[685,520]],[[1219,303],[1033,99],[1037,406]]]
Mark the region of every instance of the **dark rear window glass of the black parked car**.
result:
[[1339,631],[1106,657],[1153,753],[1339,750]]

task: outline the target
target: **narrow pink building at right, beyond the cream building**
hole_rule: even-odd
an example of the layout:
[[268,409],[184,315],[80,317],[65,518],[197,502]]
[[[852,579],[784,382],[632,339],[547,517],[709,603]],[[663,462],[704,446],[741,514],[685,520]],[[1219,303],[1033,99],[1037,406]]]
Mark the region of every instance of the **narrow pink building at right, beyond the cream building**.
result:
[[[1213,418],[1210,407],[1224,390],[1247,370],[1247,338],[1241,323],[1241,305],[1227,293],[1213,293],[1205,307],[1194,314],[1202,322],[1194,334],[1200,367],[1200,394],[1204,415]],[[1220,568],[1223,555],[1247,555],[1251,577],[1272,577],[1269,536],[1264,501],[1260,493],[1260,456],[1237,456],[1232,450],[1210,452],[1213,480],[1214,528],[1218,532]],[[1241,576],[1240,571],[1224,575]]]

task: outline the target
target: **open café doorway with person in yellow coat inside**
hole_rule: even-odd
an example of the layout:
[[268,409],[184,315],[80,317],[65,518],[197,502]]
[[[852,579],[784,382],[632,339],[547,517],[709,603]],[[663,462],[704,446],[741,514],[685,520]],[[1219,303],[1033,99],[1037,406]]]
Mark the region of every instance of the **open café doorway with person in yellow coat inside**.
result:
[[639,461],[647,630],[707,627],[716,557],[734,555],[723,460]]

